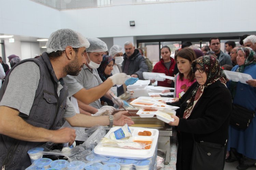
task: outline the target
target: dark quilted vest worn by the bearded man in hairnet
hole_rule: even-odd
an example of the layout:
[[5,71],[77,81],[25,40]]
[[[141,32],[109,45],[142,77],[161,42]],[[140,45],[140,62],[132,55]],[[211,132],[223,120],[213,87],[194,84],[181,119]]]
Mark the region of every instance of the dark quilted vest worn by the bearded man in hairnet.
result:
[[[9,75],[11,74],[12,70],[18,65],[29,61],[32,61],[39,66],[40,80],[38,88],[35,92],[34,102],[29,116],[19,116],[33,126],[50,130],[59,129],[62,125],[61,119],[65,109],[68,107],[66,105],[68,87],[65,86],[64,83],[61,83],[63,88],[60,90],[60,95],[58,97],[58,79],[56,78],[52,64],[46,52],[43,53],[39,58],[23,60],[10,70],[0,89],[0,101],[2,100],[8,85]],[[60,82],[63,82],[62,79],[60,79]],[[10,122],[10,128],[12,128],[12,122]],[[28,142],[17,140],[0,134],[0,165],[5,166],[5,170],[26,169],[31,165],[30,158],[27,153],[28,150],[41,146],[44,143],[45,142]]]

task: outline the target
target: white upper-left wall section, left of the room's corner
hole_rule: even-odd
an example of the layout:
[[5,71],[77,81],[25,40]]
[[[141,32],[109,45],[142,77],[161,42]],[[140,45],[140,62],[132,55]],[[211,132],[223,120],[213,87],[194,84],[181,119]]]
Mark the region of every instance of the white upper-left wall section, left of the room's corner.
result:
[[49,37],[61,27],[60,12],[29,0],[0,0],[0,33]]

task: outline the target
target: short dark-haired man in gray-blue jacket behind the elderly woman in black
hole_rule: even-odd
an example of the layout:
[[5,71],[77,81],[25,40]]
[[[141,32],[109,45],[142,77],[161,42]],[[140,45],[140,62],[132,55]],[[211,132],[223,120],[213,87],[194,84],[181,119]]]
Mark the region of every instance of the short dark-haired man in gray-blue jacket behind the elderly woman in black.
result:
[[210,38],[210,48],[215,52],[217,59],[219,61],[219,65],[223,66],[225,64],[232,66],[232,62],[230,56],[221,51],[221,40],[218,37]]

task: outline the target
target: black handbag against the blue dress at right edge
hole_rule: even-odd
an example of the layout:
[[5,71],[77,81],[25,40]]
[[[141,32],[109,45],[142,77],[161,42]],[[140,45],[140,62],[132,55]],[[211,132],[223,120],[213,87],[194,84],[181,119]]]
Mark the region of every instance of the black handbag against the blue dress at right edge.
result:
[[249,111],[248,109],[238,104],[233,104],[230,124],[236,126],[239,129],[245,130],[252,122],[254,116],[255,111]]

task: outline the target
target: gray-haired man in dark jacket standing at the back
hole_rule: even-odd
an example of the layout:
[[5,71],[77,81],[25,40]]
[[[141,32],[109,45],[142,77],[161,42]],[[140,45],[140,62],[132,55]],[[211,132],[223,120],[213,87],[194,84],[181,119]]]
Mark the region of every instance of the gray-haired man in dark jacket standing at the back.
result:
[[125,43],[124,61],[122,70],[127,75],[143,80],[143,72],[147,72],[148,68],[144,57],[139,50],[135,49],[131,41]]

